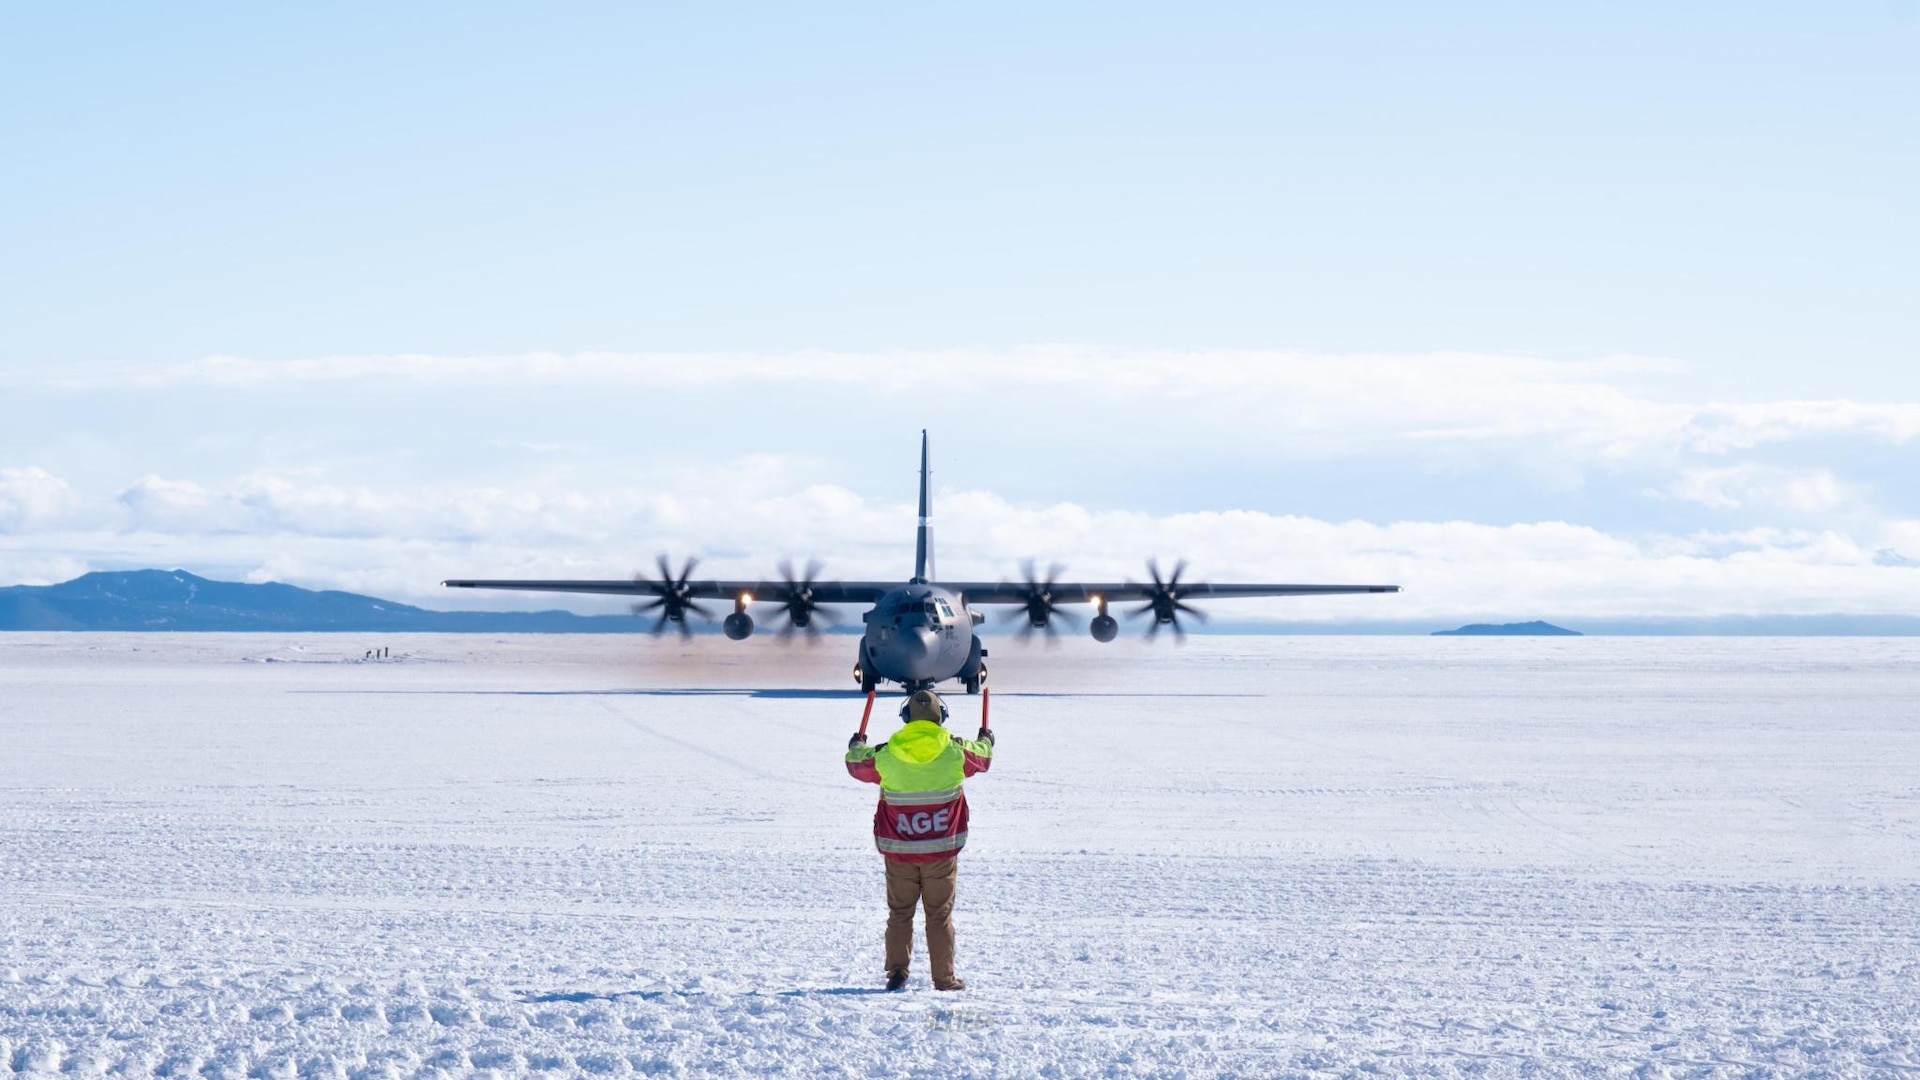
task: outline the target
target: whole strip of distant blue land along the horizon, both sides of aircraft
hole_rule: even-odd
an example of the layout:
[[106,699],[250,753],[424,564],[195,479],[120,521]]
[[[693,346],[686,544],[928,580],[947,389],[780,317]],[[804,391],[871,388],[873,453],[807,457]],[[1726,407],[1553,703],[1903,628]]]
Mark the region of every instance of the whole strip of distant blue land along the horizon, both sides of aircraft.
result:
[[[1221,611],[1231,615],[1231,611]],[[115,571],[61,584],[0,588],[0,630],[396,630],[424,634],[634,634],[653,628],[630,615],[570,611],[430,611],[353,592],[292,584],[207,580],[186,571]],[[762,623],[762,628],[768,628]],[[695,626],[710,632],[714,626]],[[858,632],[849,626],[845,632]],[[1434,634],[1432,623],[1233,623],[1225,634]],[[1912,615],[1720,615],[1699,619],[1471,625],[1446,636],[1920,636]]]

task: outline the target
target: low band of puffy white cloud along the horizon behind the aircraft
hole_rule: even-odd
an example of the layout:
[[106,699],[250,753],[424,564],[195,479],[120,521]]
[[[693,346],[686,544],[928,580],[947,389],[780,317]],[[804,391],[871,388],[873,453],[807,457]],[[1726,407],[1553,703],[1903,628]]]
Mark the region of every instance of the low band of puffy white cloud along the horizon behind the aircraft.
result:
[[[58,488],[35,477],[36,488]],[[445,594],[444,577],[624,578],[655,552],[707,555],[716,577],[762,577],[781,557],[829,559],[829,577],[900,578],[914,509],[835,486],[758,498],[685,490],[518,492],[372,488],[307,475],[230,486],[146,479],[117,500],[115,528],[0,536],[0,573],[46,573],[48,550],[90,565],[182,565],[428,605],[563,605],[564,598]],[[75,515],[71,521],[83,521]],[[1221,617],[1417,619],[1457,615],[1607,617],[1887,613],[1920,609],[1920,569],[1885,557],[1920,525],[1872,536],[1755,528],[1626,538],[1540,521],[1319,521],[1254,511],[1146,515],[1058,503],[1025,507],[987,492],[943,500],[941,573],[1000,580],[1023,557],[1060,559],[1081,578],[1139,578],[1146,555],[1190,557],[1210,580],[1392,582],[1402,596],[1213,605]],[[620,609],[618,601],[599,609]]]

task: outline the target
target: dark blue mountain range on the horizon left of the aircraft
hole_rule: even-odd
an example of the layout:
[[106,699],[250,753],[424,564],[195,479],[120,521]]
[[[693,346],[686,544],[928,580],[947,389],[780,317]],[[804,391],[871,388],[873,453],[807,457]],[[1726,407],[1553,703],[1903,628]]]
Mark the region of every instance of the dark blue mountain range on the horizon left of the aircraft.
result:
[[630,634],[645,628],[626,615],[428,611],[351,592],[207,580],[186,571],[92,573],[61,584],[0,588],[0,630]]

